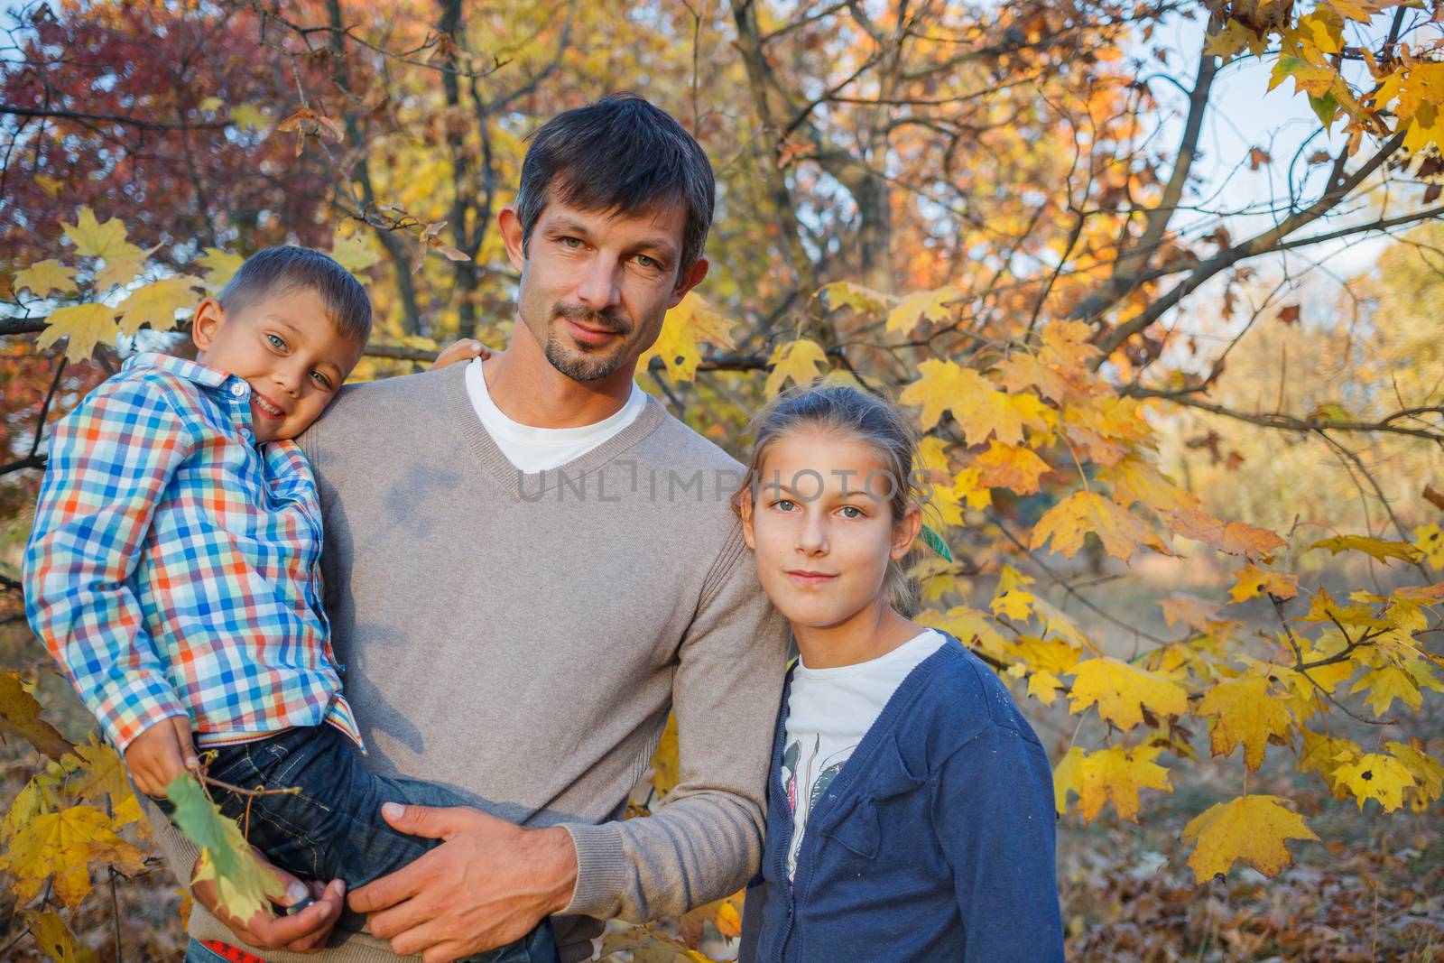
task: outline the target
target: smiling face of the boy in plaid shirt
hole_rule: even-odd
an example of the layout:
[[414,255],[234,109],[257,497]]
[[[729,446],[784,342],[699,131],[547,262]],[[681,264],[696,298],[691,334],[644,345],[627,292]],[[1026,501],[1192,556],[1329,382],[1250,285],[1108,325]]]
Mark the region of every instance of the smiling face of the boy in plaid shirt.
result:
[[305,432],[365,348],[336,331],[310,287],[282,290],[232,312],[206,299],[196,310],[191,336],[201,349],[201,364],[251,385],[257,442]]

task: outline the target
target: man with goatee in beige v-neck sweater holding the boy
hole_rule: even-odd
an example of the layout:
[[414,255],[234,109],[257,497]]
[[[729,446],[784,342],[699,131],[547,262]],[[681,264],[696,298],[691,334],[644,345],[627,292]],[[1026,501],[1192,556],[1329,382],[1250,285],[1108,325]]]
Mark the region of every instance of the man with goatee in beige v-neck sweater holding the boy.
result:
[[[702,149],[647,101],[554,117],[498,217],[521,271],[507,349],[348,388],[302,437],[368,764],[477,809],[386,814],[445,840],[348,894],[388,947],[347,934],[302,956],[325,946],[339,881],[312,884],[293,917],[224,925],[198,884],[188,960],[240,941],[270,963],[439,963],[553,915],[570,963],[596,918],[676,914],[747,882],[786,629],[728,505],[741,466],[632,381],[706,276],[712,202]],[[619,822],[669,709],[682,780],[660,813]],[[189,869],[193,847],[157,827]]]

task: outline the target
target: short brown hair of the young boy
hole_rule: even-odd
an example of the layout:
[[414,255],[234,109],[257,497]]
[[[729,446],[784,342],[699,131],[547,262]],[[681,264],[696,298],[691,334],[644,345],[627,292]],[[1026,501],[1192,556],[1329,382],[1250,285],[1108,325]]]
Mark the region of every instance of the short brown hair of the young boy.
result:
[[326,318],[342,338],[371,336],[371,297],[351,271],[322,251],[283,244],[245,258],[215,296],[224,310],[241,310],[263,297],[308,287],[321,296]]

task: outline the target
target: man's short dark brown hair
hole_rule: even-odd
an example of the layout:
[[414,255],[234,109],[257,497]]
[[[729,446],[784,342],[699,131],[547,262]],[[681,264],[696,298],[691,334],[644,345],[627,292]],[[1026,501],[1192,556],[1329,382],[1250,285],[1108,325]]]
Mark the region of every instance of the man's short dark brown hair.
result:
[[521,162],[517,217],[521,250],[552,198],[583,211],[640,214],[682,204],[677,283],[699,257],[712,227],[716,185],[702,146],[671,114],[637,94],[611,94],[563,111],[531,134]]

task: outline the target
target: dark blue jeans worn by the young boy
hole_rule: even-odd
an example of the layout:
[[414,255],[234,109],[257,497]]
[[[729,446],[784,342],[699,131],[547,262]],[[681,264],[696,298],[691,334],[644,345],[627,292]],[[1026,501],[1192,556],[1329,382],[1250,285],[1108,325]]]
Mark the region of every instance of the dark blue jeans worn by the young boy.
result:
[[[347,891],[365,885],[439,846],[438,839],[407,836],[381,819],[381,803],[466,806],[430,783],[375,775],[335,726],[302,726],[266,739],[217,746],[206,774],[243,788],[299,788],[299,793],[244,797],[209,787],[221,811],[245,819],[247,839],[266,856],[302,879],[345,879]],[[156,800],[169,816],[166,800]],[[243,822],[243,827],[245,823]],[[342,915],[342,925],[347,917]],[[358,917],[351,917],[360,921]],[[474,963],[556,963],[552,924],[543,920],[516,943],[479,956]]]

